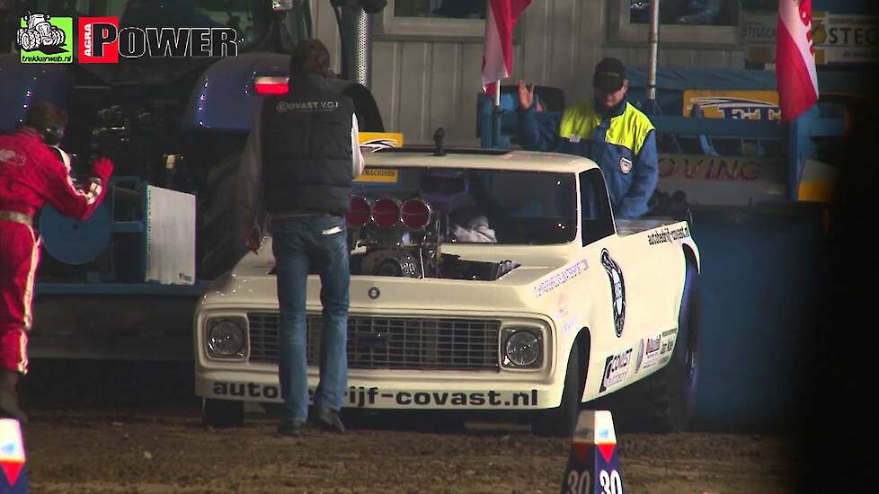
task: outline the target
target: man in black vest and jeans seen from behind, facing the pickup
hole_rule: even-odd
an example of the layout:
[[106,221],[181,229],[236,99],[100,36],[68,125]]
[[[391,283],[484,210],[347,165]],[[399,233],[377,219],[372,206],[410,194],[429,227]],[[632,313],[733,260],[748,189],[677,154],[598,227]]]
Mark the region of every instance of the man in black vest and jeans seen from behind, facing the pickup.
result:
[[[351,180],[363,171],[354,103],[327,87],[330,54],[319,40],[293,51],[289,93],[267,97],[239,172],[244,243],[260,246],[262,206],[271,217],[280,307],[283,436],[299,436],[308,414],[306,281],[309,264],[321,278],[324,325],[315,418],[344,431],[339,411],[348,390],[345,345],[351,280],[345,213]],[[262,193],[262,194],[261,194]]]

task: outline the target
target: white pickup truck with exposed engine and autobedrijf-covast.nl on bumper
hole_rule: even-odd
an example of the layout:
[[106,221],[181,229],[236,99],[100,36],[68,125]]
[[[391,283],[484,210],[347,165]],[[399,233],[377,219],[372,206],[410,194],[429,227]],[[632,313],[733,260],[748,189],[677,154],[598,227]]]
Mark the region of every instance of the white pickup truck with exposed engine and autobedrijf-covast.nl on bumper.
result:
[[[581,404],[648,378],[656,428],[685,428],[698,363],[699,253],[687,222],[614,221],[597,165],[567,154],[367,154],[348,235],[347,407],[521,410],[569,435]],[[195,314],[204,420],[280,402],[271,238]],[[320,281],[308,279],[310,393]],[[646,385],[649,384],[649,385]]]

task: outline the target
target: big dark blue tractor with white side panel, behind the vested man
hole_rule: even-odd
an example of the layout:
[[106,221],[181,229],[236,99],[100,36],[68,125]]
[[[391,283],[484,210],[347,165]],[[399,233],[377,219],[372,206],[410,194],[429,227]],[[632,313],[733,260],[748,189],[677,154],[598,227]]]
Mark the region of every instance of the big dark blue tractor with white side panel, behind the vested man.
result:
[[[331,3],[340,27],[345,15],[384,4]],[[73,31],[83,17],[118,18],[120,30],[147,34],[232,28],[236,53],[147,50],[110,64],[81,63],[78,55],[70,64],[26,64],[2,51],[29,13],[71,17]],[[77,51],[76,34],[58,50]],[[235,220],[241,150],[263,96],[286,90],[289,53],[311,37],[303,0],[0,2],[0,133],[13,132],[32,102],[52,101],[69,115],[60,147],[74,156],[74,174],[98,154],[116,164],[111,192],[88,221],[50,207],[40,214],[33,357],[191,359],[192,308],[209,280],[244,253]],[[342,77],[331,87],[354,101],[361,131],[384,131],[372,94]],[[173,266],[173,279],[156,281],[155,264],[167,268],[163,256],[190,258],[192,268]]]

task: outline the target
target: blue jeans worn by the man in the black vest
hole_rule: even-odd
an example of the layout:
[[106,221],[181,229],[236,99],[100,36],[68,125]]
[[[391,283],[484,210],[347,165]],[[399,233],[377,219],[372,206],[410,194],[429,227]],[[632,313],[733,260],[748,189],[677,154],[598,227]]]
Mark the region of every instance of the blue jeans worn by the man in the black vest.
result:
[[285,420],[308,416],[306,281],[309,265],[321,278],[324,330],[315,407],[341,410],[348,387],[348,288],[351,284],[344,218],[294,216],[271,222],[280,308],[280,394]]

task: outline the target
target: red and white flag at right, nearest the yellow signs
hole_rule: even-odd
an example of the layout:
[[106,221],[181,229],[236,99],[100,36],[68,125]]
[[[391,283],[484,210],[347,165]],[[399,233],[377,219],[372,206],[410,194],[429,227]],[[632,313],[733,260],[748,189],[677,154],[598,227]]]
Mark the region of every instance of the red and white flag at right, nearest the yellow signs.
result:
[[812,0],[779,0],[776,79],[781,118],[790,121],[818,101],[812,46]]

